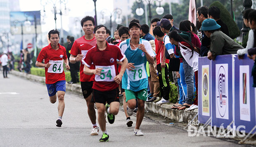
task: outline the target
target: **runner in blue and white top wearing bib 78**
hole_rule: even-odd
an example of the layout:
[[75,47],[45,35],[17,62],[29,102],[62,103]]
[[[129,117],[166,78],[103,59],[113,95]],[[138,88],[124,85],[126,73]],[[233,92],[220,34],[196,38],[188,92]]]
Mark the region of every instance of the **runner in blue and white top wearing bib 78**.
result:
[[147,100],[148,77],[146,72],[147,61],[154,64],[154,52],[147,40],[140,39],[142,33],[139,23],[133,21],[129,24],[130,39],[127,39],[119,45],[123,54],[128,59],[126,72],[122,78],[122,88],[125,89],[126,102],[128,104],[127,113],[133,114],[138,102],[137,119],[134,134],[143,135],[140,130],[140,124],[144,117],[145,100]]

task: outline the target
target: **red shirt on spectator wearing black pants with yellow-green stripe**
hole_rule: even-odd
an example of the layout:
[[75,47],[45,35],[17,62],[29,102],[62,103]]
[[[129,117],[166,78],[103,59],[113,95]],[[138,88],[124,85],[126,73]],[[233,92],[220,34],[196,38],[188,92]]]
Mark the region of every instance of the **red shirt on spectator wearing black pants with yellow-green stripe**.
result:
[[[155,39],[155,44],[156,44],[156,64],[158,65],[162,63],[162,60],[165,55],[164,42]],[[169,63],[169,59],[166,59],[165,63]]]

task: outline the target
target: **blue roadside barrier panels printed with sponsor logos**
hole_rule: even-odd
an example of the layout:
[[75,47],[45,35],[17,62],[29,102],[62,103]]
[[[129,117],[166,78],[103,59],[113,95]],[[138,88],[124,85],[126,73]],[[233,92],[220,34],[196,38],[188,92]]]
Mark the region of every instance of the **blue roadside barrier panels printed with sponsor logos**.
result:
[[253,60],[247,55],[239,60],[233,54],[217,56],[214,61],[200,57],[198,62],[198,121],[224,128],[244,126],[246,133],[254,133]]

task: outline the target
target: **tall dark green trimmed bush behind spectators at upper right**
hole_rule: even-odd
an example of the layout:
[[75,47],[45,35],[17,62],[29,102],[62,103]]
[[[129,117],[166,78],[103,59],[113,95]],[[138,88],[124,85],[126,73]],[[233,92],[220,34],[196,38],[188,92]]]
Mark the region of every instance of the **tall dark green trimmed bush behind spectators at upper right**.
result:
[[235,21],[232,19],[232,16],[228,12],[228,9],[226,9],[220,2],[215,1],[213,2],[210,7],[216,6],[220,9],[220,19],[228,26],[228,31],[230,38],[234,39],[240,35],[240,30],[235,23]]

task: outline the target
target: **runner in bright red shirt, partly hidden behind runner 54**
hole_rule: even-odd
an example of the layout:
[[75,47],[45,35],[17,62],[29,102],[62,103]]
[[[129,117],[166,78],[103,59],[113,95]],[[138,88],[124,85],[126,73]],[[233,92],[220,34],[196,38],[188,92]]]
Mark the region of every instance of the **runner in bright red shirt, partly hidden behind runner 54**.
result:
[[[92,99],[92,84],[94,81],[94,75],[85,75],[83,73],[84,64],[82,63],[83,57],[87,54],[87,51],[96,45],[96,38],[93,34],[93,29],[95,27],[94,18],[91,16],[85,16],[81,20],[81,26],[85,33],[84,36],[78,38],[73,43],[73,46],[70,51],[70,63],[81,62],[80,65],[80,81],[81,81],[81,89],[83,92],[83,98],[85,98],[87,107],[88,107],[88,115],[90,121],[92,122],[92,132],[91,135],[98,135],[99,127],[96,123],[96,114],[94,109],[94,103],[91,102]],[[95,69],[94,65],[90,67],[90,69]]]

